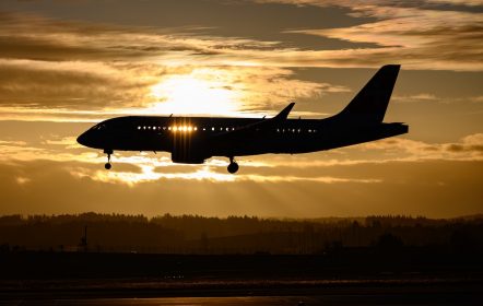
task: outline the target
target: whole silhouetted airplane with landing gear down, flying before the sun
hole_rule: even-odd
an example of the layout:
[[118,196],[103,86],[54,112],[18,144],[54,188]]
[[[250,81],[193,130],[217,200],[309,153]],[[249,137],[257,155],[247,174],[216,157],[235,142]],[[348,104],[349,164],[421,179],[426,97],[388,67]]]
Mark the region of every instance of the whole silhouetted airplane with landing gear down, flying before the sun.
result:
[[78,142],[103,150],[106,169],[114,151],[168,152],[174,163],[203,164],[213,156],[309,153],[404,134],[409,126],[382,122],[400,64],[381,67],[339,114],[325,119],[288,119],[295,103],[272,118],[123,116],[104,120]]

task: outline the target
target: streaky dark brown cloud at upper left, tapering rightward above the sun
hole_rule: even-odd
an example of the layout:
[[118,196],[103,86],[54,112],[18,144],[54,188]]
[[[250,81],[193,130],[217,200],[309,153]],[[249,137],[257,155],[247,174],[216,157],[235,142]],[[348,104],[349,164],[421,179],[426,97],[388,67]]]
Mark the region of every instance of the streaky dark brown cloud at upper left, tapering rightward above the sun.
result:
[[35,14],[0,12],[0,57],[48,61],[109,61],[139,60],[170,50],[201,51],[196,46],[188,48],[174,42],[167,46],[161,44],[166,33],[186,34],[186,30],[93,25]]

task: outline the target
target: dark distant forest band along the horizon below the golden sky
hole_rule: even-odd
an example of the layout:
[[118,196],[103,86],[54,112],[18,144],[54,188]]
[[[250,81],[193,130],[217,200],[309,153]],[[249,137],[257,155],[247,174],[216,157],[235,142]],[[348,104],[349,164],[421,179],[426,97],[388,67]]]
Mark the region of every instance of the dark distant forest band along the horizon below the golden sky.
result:
[[313,220],[83,213],[0,216],[0,251],[326,254],[334,249],[483,249],[483,215]]

